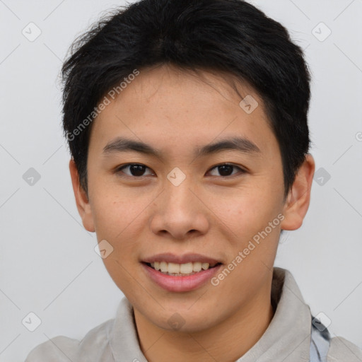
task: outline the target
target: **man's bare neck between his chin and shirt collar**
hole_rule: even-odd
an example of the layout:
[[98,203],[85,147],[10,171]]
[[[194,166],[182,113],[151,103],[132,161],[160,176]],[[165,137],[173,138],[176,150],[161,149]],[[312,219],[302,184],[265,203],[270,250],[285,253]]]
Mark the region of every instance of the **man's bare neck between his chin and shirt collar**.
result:
[[148,362],[234,362],[262,337],[274,315],[271,286],[218,325],[198,332],[161,329],[134,310],[141,351]]

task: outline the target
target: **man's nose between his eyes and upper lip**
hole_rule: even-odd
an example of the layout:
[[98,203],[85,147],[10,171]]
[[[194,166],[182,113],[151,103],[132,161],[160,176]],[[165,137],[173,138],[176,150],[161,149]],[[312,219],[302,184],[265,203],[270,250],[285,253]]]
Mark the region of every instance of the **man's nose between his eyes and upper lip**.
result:
[[209,229],[205,200],[187,178],[178,186],[166,182],[153,205],[149,222],[156,235],[167,234],[177,240],[186,240],[192,235],[203,235]]

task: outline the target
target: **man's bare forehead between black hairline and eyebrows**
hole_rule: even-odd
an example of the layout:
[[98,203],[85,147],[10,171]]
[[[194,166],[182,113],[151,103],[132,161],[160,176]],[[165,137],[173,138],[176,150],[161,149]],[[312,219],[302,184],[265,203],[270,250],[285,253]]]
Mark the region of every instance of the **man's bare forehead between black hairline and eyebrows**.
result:
[[140,70],[96,117],[91,133],[91,143],[98,146],[115,136],[131,136],[170,152],[175,144],[201,145],[223,136],[244,136],[264,151],[276,143],[262,99],[246,83],[228,74],[173,66]]

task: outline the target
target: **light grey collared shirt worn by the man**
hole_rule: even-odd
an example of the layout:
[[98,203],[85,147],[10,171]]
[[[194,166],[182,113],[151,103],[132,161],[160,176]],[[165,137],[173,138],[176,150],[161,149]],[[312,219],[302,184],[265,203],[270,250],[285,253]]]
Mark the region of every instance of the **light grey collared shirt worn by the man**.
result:
[[[274,267],[271,301],[276,306],[267,330],[235,362],[319,362],[321,333],[312,333],[312,315],[292,274]],[[327,332],[327,330],[325,331]],[[327,362],[362,362],[362,350],[341,337],[330,339]],[[91,329],[81,340],[55,337],[35,347],[25,362],[148,362],[136,332],[132,305],[119,303],[115,319]]]

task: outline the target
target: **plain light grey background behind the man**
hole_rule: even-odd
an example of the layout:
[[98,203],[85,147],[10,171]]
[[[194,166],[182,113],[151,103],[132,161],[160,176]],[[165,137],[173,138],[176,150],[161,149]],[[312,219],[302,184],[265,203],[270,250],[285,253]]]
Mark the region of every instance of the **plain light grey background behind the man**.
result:
[[[331,176],[313,182],[308,216],[281,240],[276,266],[293,273],[315,315],[332,320],[333,335],[362,347],[362,1],[253,3],[305,49],[312,153]],[[120,4],[0,0],[0,361],[23,361],[59,334],[81,339],[114,317],[122,297],[78,216],[57,83],[76,35]],[[42,32],[33,42],[22,34],[30,22]],[[332,31],[324,41],[320,22]],[[33,186],[23,180],[29,168],[41,176]],[[34,332],[22,324],[30,312],[41,320]]]

